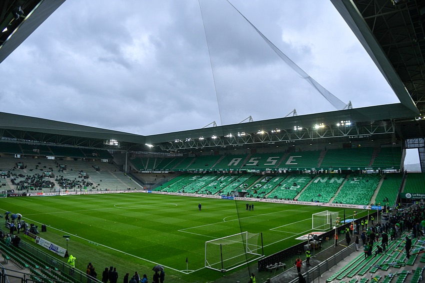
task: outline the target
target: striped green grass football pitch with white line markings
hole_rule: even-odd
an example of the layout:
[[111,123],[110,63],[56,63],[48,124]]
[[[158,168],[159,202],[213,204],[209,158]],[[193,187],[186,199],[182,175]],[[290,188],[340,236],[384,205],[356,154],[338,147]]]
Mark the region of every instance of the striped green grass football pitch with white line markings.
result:
[[[204,268],[206,241],[262,233],[267,256],[300,243],[295,238],[312,231],[313,213],[339,211],[342,218],[340,208],[253,204],[254,210],[247,211],[243,201],[125,193],[6,198],[0,200],[0,213],[22,214],[26,223],[38,225],[38,236],[63,248],[62,236],[70,235],[68,251],[76,257],[76,268],[84,272],[93,263],[97,279],[110,266],[120,280],[134,271],[151,278],[152,267],[159,264],[167,282],[210,282],[222,276]],[[350,218],[352,210],[345,213]],[[41,232],[41,224],[47,232]]]

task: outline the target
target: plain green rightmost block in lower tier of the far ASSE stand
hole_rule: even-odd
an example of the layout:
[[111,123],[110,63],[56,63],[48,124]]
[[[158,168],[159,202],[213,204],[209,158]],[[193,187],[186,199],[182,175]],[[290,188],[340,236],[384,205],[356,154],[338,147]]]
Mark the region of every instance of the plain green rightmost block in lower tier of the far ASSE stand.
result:
[[380,203],[382,205],[388,203],[389,206],[392,206],[397,199],[402,177],[400,173],[385,174],[379,192],[376,195],[375,203]]

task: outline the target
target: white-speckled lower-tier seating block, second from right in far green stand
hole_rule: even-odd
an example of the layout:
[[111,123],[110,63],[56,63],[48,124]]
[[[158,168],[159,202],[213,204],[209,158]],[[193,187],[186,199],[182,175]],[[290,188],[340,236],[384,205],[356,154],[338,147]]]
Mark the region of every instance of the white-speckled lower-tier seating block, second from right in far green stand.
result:
[[367,205],[379,183],[380,176],[375,174],[351,174],[347,176],[333,203]]

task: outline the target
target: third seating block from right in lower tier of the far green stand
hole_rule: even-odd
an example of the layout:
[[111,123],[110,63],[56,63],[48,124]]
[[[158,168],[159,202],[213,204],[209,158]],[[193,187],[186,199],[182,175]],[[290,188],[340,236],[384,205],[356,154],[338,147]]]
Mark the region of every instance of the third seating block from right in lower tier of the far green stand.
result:
[[319,174],[302,191],[298,201],[327,203],[344,181],[344,174]]

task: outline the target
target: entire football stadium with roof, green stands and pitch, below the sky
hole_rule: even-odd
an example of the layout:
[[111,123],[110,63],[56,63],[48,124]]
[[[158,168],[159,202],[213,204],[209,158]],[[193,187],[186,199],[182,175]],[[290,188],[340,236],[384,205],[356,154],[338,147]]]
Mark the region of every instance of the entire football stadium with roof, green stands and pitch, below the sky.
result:
[[[0,8],[0,63],[64,0],[14,2]],[[406,258],[404,227],[363,259],[350,226],[423,211],[425,5],[331,2],[399,103],[154,135],[1,112],[2,234],[22,224],[17,246],[0,241],[2,280],[100,282],[114,267],[119,281],[156,268],[165,282],[296,282],[311,249],[308,282],[418,282],[425,238]],[[405,170],[408,149],[422,173]]]

